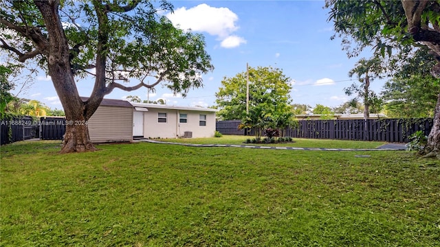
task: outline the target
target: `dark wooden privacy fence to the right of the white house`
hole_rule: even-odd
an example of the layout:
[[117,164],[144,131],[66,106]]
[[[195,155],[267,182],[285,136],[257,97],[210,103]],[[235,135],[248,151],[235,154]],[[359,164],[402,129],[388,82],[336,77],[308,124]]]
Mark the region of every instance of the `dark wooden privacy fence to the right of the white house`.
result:
[[[217,131],[245,134],[237,129],[239,124],[239,120],[217,121]],[[286,128],[285,133],[293,138],[408,142],[412,133],[421,130],[428,135],[431,128],[432,119],[300,120],[296,128]],[[254,135],[254,130],[249,135]]]

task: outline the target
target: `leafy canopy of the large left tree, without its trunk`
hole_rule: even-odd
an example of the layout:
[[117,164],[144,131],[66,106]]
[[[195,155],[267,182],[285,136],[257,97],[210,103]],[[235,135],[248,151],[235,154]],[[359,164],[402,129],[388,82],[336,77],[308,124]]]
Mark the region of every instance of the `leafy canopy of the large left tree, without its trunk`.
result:
[[[0,23],[1,30],[8,31],[0,36],[0,47],[20,62],[35,59],[47,70],[45,62],[51,62],[49,55],[56,47],[50,45],[45,14],[37,10],[43,4],[6,1],[5,5]],[[98,75],[98,63],[105,60],[105,84],[100,86],[104,94],[115,88],[153,88],[160,82],[185,94],[202,86],[201,74],[213,69],[210,56],[200,49],[205,46],[203,36],[179,30],[159,14],[172,10],[166,1],[158,7],[151,1],[129,1],[126,5],[65,1],[58,8],[64,31],[59,34],[67,38],[65,45],[69,47],[69,61],[65,62],[71,64],[73,75],[84,78]],[[137,84],[121,83],[130,80]]]

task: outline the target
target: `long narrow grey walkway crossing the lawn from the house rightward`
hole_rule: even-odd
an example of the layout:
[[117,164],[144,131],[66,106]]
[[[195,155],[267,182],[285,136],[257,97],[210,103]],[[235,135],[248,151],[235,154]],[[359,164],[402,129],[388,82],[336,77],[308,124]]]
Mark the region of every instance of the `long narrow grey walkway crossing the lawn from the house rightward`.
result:
[[254,149],[270,149],[270,150],[307,150],[307,151],[396,151],[406,150],[405,144],[400,143],[388,143],[380,146],[379,148],[294,148],[294,147],[267,147],[257,145],[228,145],[228,144],[191,144],[191,143],[174,143],[166,141],[155,141],[151,139],[140,139],[138,141],[144,141],[148,143],[160,143],[170,145],[184,145],[188,147],[197,148],[210,148],[210,147],[230,147],[230,148],[254,148]]

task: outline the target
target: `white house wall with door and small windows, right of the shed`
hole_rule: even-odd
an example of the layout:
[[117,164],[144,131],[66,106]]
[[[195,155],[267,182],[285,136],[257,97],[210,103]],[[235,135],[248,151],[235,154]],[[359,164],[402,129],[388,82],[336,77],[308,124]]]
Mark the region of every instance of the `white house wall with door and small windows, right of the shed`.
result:
[[213,137],[215,113],[210,108],[133,103],[133,137]]

